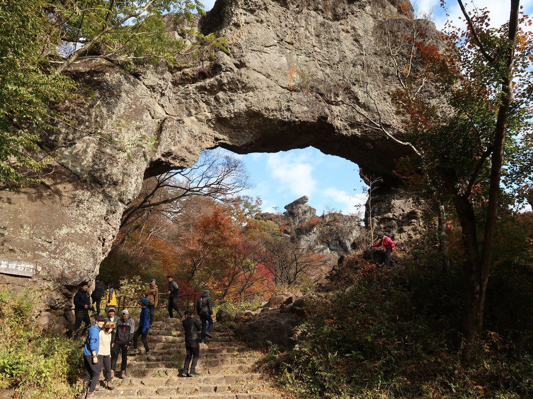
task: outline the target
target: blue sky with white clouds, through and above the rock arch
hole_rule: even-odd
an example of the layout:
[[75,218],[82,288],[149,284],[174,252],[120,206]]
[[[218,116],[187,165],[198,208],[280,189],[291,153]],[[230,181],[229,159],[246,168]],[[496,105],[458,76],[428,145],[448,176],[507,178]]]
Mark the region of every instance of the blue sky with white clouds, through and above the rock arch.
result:
[[[205,10],[211,10],[214,0],[204,0]],[[413,2],[417,15],[431,13],[430,18],[437,28],[442,29],[446,13],[439,6],[439,0]],[[509,16],[509,0],[483,0],[473,3],[478,8],[487,7],[491,22],[500,26]],[[446,2],[450,19],[457,21],[461,9],[455,0]],[[533,14],[533,0],[522,0],[524,12]],[[472,2],[465,1],[467,10]],[[284,206],[303,195],[309,197],[308,204],[317,209],[317,214],[341,211],[344,214],[357,213],[366,200],[367,187],[359,178],[359,167],[346,159],[322,154],[312,147],[281,151],[275,154],[236,155],[248,170],[255,188],[243,194],[259,196],[263,200],[263,212],[284,211]]]

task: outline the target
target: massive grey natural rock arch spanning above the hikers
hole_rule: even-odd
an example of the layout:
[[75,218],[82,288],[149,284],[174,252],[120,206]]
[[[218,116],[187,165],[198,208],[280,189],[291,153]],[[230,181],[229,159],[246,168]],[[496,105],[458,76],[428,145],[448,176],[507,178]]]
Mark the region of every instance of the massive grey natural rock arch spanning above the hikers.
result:
[[[401,138],[385,38],[387,27],[408,29],[406,4],[218,0],[197,19],[203,33],[228,39],[215,61],[133,74],[104,60],[76,63],[68,73],[90,93],[64,107],[76,128],[44,138],[57,158],[41,184],[0,193],[0,257],[35,262],[35,272],[0,283],[45,288],[41,308],[72,321],[64,309],[76,285],[98,274],[143,178],[191,166],[206,148],[313,146],[393,187],[395,159],[411,150],[383,132]],[[420,26],[434,41],[433,25]]]

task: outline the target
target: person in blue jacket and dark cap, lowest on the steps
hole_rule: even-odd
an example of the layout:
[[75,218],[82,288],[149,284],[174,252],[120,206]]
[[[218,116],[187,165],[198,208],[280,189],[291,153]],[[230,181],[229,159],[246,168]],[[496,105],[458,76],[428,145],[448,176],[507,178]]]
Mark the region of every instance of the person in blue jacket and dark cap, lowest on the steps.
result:
[[[87,285],[88,288],[88,285]],[[87,339],[83,349],[83,365],[85,367],[85,376],[83,377],[83,388],[80,398],[92,397],[94,388],[98,384],[101,363],[98,362],[98,349],[100,348],[100,330],[102,329],[106,318],[96,316],[96,320],[91,328],[87,331]]]

